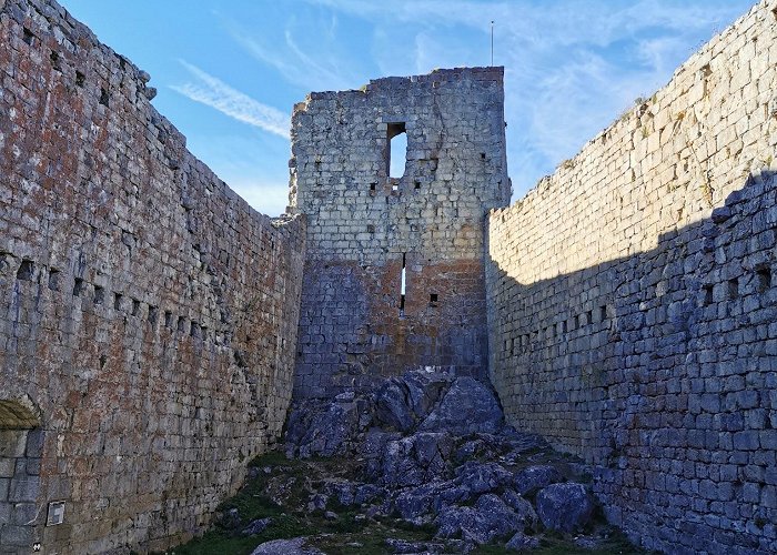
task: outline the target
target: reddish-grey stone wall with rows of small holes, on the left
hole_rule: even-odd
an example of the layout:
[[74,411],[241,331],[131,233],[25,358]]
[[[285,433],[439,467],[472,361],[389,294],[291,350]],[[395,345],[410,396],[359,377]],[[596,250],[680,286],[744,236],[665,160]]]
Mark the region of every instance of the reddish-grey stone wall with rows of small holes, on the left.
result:
[[253,211],[54,2],[0,0],[0,552],[163,549],[280,433],[303,222]]

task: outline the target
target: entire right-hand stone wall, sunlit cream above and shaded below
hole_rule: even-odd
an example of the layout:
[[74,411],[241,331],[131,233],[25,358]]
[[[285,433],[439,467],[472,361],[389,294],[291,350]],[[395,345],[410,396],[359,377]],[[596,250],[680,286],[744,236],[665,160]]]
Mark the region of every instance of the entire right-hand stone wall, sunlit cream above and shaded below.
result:
[[769,0],[488,219],[508,420],[669,553],[777,551],[775,90]]

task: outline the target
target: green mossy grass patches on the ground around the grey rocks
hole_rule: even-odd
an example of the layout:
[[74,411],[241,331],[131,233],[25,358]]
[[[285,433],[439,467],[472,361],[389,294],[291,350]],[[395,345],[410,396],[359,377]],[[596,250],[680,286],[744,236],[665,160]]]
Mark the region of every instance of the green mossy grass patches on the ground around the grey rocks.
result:
[[[524,455],[518,466],[524,463],[542,464],[554,461],[554,454],[548,448],[531,450]],[[558,460],[559,455],[555,454],[555,462]],[[203,536],[169,551],[169,554],[248,555],[264,542],[306,536],[310,537],[311,545],[325,553],[370,555],[387,553],[386,538],[411,542],[434,539],[436,529],[432,524],[416,526],[397,517],[366,518],[360,516],[356,508],[341,505],[334,496],[330,498],[327,509],[337,515],[336,519],[326,518],[323,511],[306,511],[310,486],[320,485],[326,478],[359,475],[359,466],[354,461],[290,461],[283,453],[271,452],[256,457],[251,462],[251,466],[261,471],[254,478],[249,480],[234,497],[219,506],[221,512],[238,509],[241,525],[235,529],[214,525]],[[282,500],[283,506],[273,501],[273,497]],[[272,523],[261,534],[249,537],[240,534],[242,527],[252,521],[265,517],[271,517]],[[602,515],[597,514],[592,529],[601,529],[601,526],[606,525]],[[478,547],[474,553],[491,555],[508,552],[503,546],[486,545]],[[599,548],[593,551],[581,549],[568,536],[548,535],[543,537],[541,548],[533,553],[636,555],[645,552],[635,549],[623,535],[612,535]]]

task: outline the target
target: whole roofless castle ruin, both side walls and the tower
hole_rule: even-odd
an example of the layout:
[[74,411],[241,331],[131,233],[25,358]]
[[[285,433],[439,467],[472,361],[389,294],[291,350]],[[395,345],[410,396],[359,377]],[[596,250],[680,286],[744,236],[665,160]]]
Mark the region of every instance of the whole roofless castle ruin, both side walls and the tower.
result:
[[501,68],[312,93],[274,220],[54,1],[0,39],[3,553],[176,545],[292,395],[420,365],[490,379],[642,545],[777,551],[774,0],[509,206]]

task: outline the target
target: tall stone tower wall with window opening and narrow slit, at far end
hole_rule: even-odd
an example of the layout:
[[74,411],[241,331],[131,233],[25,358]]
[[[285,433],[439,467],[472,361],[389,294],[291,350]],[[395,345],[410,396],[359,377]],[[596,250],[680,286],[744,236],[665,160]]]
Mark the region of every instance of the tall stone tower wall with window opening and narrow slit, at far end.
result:
[[[295,396],[417,365],[485,375],[484,219],[509,200],[502,79],[438,70],[295,107],[291,204],[309,222]],[[406,157],[390,152],[402,132]]]

